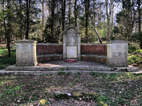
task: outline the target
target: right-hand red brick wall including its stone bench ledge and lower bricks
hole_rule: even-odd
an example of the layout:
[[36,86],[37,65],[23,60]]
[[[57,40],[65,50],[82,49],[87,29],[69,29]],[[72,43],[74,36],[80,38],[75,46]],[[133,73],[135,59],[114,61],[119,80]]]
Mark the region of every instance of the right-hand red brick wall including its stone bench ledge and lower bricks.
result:
[[107,45],[106,44],[82,44],[81,60],[106,64]]

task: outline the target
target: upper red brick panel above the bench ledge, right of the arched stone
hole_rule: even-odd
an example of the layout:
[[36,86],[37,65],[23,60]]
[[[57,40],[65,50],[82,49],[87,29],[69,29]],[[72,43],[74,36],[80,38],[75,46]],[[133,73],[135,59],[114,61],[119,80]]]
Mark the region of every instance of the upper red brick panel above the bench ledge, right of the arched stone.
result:
[[105,44],[82,44],[81,54],[96,54],[96,55],[107,55],[107,45]]

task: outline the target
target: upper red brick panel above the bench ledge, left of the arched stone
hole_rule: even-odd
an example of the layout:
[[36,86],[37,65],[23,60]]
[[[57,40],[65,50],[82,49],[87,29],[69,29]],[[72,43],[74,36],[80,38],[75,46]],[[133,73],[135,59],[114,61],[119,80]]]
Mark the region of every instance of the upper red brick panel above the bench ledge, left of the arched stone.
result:
[[62,44],[37,44],[37,55],[63,54]]

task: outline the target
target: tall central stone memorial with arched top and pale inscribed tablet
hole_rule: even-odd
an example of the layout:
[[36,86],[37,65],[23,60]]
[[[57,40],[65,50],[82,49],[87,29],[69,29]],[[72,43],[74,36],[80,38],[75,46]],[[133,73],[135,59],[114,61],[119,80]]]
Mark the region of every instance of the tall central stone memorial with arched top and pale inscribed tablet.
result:
[[67,27],[63,32],[63,59],[80,60],[80,31],[76,27]]

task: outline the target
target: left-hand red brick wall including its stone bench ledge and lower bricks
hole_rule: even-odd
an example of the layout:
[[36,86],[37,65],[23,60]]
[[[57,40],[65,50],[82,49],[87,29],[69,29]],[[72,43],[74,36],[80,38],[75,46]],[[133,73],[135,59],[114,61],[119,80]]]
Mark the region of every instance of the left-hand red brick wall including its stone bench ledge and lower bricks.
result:
[[37,43],[37,62],[57,61],[63,59],[63,45],[57,43]]

